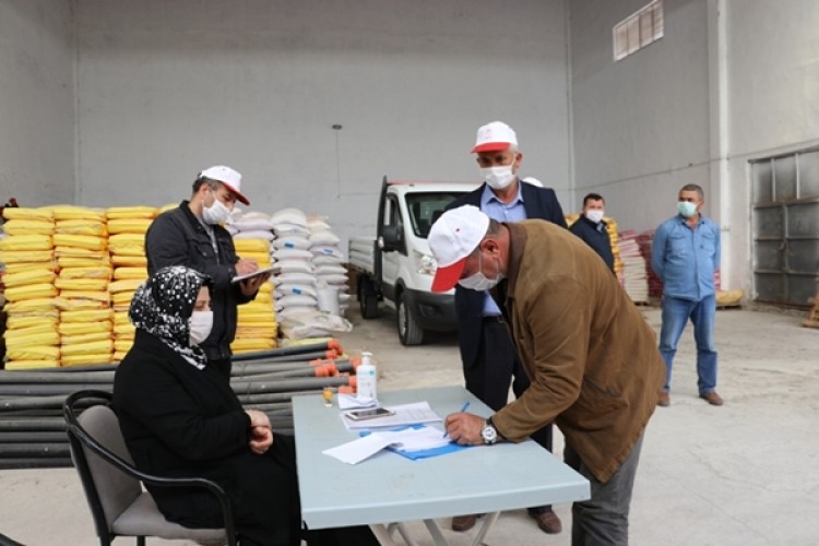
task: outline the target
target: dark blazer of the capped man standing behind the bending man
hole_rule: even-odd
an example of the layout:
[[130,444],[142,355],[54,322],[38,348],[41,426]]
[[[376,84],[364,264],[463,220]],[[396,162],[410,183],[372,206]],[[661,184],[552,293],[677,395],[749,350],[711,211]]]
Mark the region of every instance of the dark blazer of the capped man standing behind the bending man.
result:
[[[521,185],[523,207],[527,218],[542,218],[566,227],[563,210],[551,188],[538,188],[518,180]],[[471,204],[480,207],[480,195],[484,186],[454,200],[447,210]],[[455,285],[455,312],[458,314],[458,344],[461,348],[461,360],[468,369],[477,358],[480,341],[480,329],[484,313],[484,293]]]

